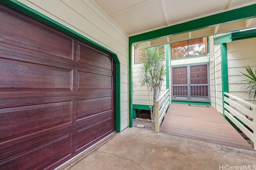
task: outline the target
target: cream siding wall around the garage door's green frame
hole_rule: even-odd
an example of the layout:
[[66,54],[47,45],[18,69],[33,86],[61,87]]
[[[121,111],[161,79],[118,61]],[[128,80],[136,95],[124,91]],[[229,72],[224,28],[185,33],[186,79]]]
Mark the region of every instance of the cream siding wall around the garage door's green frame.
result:
[[128,127],[128,36],[90,0],[18,1],[118,55],[121,65],[121,130]]

